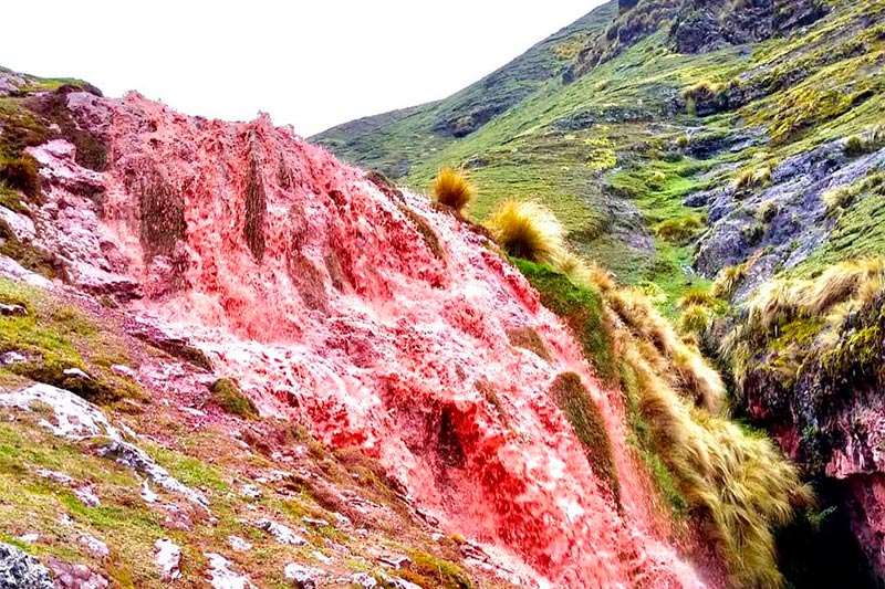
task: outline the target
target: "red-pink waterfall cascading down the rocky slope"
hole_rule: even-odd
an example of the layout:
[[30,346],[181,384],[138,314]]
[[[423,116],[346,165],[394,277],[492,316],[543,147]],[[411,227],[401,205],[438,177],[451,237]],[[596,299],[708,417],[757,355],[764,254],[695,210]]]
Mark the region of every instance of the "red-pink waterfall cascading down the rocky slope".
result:
[[[525,583],[702,586],[627,446],[621,395],[482,234],[267,117],[61,95],[107,152],[95,171],[64,139],[27,148],[34,245],[70,284],[187,336],[262,416],[377,457]],[[527,330],[546,354],[511,344]],[[602,416],[617,497],[552,398],[564,372]]]

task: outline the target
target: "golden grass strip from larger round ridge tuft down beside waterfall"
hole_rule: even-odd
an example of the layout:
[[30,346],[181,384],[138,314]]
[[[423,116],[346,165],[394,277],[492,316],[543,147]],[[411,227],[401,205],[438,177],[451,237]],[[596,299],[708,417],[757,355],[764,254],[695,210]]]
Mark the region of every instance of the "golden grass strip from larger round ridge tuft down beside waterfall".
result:
[[[631,385],[624,380],[622,386],[637,397],[635,410],[650,431],[650,451],[728,565],[732,585],[780,588],[774,528],[813,499],[796,469],[768,439],[721,417],[725,386],[697,347],[679,337],[642,292],[618,285],[606,271],[570,253],[545,209],[503,203],[489,227],[511,255],[544,261],[572,282],[598,291],[600,325],[614,357],[635,375]],[[729,273],[729,291],[743,272]],[[712,304],[709,295],[689,293],[683,306],[698,315],[693,327],[700,327]]]

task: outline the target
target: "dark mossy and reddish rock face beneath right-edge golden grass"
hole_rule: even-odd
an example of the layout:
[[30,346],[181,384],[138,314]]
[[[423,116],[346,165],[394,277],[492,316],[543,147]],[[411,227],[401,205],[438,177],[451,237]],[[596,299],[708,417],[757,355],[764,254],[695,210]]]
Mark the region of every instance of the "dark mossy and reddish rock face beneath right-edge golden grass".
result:
[[[831,350],[804,358],[791,377],[763,365],[747,377],[750,417],[812,476],[885,579],[885,298],[851,314]],[[830,496],[827,496],[830,495]]]

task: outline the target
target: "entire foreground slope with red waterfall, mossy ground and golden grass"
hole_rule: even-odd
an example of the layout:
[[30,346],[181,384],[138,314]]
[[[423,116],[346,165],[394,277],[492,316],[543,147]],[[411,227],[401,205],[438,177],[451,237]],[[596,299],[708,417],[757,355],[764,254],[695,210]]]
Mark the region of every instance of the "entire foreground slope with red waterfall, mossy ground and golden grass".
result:
[[267,117],[0,80],[12,582],[783,585],[810,490],[642,295]]

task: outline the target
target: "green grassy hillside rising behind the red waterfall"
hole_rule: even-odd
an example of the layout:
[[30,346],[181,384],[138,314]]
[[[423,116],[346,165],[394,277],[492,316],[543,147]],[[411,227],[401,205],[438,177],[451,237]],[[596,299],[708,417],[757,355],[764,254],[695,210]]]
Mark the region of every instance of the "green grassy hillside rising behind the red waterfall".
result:
[[[811,24],[696,54],[675,51],[668,20],[675,9],[664,4],[641,2],[617,20],[616,7],[606,4],[579,21],[577,29],[533,48],[508,67],[522,70],[540,51],[585,62],[591,48],[602,57],[592,67],[584,62],[563,67],[570,82],[571,74],[586,70],[571,84],[551,75],[534,82],[528,96],[528,86],[519,85],[516,98],[501,103],[506,112],[465,137],[452,139],[438,123],[481,83],[447,101],[336,127],[316,139],[358,165],[399,175],[408,170],[404,181],[419,190],[427,189],[439,166],[467,166],[479,189],[470,212],[476,220],[486,219],[503,198],[542,200],[564,221],[575,250],[657,293],[669,313],[686,288],[706,284],[720,267],[768,255],[766,249],[777,256],[763,264],[763,276],[800,263],[799,245],[804,260],[825,243],[812,261],[827,262],[840,259],[834,250],[875,249],[877,228],[862,239],[868,246],[853,239],[843,243],[844,236],[836,241],[877,214],[865,210],[871,204],[863,198],[852,200],[864,212],[843,209],[841,233],[836,228],[823,239],[784,229],[792,219],[788,213],[795,223],[815,220],[808,207],[792,206],[779,219],[775,201],[784,199],[791,170],[814,149],[854,135],[864,143],[858,152],[877,149],[874,127],[885,112],[885,3],[834,0]],[[625,31],[638,32],[627,42]],[[570,41],[558,42],[562,35]],[[582,35],[587,41],[579,48]],[[497,83],[489,99],[498,99],[497,93],[510,96],[510,87]],[[784,161],[792,168],[779,169]],[[845,157],[833,171],[851,164]],[[779,185],[782,190],[756,198]],[[753,197],[752,207],[745,206],[747,197]],[[721,227],[705,238],[714,246],[696,273],[697,238],[717,223]]]

